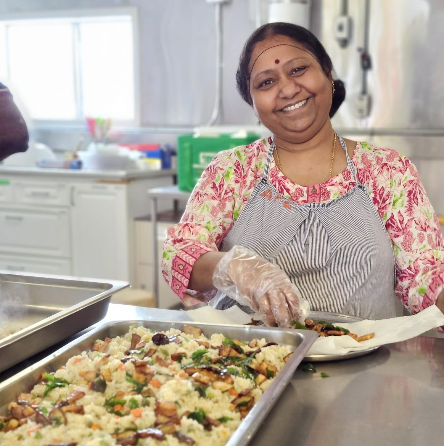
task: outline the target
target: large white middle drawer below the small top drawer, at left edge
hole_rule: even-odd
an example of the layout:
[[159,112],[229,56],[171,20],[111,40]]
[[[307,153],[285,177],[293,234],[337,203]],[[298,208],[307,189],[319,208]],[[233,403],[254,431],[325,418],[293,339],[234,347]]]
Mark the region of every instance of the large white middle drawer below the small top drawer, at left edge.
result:
[[0,206],[0,252],[69,257],[68,211]]

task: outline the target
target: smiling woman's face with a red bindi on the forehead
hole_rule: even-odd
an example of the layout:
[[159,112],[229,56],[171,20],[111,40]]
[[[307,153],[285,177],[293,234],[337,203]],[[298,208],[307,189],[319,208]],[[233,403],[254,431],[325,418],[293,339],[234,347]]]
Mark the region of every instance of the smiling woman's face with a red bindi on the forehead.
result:
[[254,112],[273,135],[305,142],[329,119],[331,78],[301,44],[269,37],[255,45],[248,68]]

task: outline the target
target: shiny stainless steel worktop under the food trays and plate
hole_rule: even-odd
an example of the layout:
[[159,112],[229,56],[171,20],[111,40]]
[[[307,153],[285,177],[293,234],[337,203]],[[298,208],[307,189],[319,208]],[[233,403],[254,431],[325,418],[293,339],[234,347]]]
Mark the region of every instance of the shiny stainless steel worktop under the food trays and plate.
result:
[[[98,325],[116,319],[188,318],[180,311],[111,304]],[[61,345],[0,374],[0,381]],[[442,444],[444,339],[418,336],[360,358],[315,366],[315,374],[296,372],[251,445]]]

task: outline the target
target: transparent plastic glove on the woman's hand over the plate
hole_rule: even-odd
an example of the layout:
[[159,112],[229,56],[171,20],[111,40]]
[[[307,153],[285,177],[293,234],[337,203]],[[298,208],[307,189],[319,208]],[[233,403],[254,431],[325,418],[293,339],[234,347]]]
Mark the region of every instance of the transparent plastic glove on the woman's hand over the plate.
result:
[[269,326],[303,320],[299,291],[275,265],[243,246],[233,246],[216,265],[213,285],[255,310]]

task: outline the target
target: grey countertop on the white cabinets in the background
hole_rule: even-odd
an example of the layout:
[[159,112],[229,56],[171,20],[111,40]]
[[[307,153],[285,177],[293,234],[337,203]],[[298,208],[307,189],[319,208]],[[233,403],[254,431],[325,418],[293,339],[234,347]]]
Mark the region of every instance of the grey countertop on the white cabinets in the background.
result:
[[71,177],[71,178],[97,178],[118,179],[118,180],[136,180],[145,178],[158,178],[171,176],[175,174],[174,169],[164,170],[86,170],[86,169],[49,169],[41,167],[10,167],[0,165],[1,175],[24,175],[27,177]]

